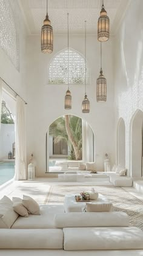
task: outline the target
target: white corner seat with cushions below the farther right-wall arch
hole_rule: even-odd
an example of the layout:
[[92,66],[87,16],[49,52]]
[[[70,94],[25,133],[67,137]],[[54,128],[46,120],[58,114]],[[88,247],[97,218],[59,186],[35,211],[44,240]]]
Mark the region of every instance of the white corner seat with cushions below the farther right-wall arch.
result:
[[120,176],[122,170],[126,170],[125,167],[114,165],[112,170],[106,173],[109,176],[110,182],[116,187],[131,187],[133,185],[132,179],[128,177],[126,173],[125,175]]

